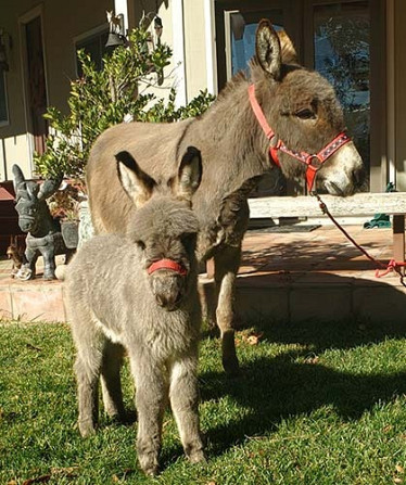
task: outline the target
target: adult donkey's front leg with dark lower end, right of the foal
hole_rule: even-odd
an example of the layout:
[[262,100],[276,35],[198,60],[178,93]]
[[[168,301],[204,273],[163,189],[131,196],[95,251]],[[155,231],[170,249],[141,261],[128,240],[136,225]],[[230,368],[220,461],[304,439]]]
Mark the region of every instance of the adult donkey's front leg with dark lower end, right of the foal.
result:
[[229,374],[239,372],[236,354],[233,298],[236,278],[241,259],[241,246],[226,246],[214,255],[214,279],[217,292],[217,326],[220,329],[223,367]]

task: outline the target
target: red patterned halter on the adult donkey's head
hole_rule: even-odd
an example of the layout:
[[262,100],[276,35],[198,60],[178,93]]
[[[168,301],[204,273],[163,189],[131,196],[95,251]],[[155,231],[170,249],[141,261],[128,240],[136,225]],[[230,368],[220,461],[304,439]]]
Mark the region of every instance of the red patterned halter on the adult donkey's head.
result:
[[[264,112],[262,111],[259,103],[255,98],[255,85],[250,85],[249,97],[251,107],[256,116],[256,119],[258,120],[262,129],[264,130],[266,138],[268,140],[271,140],[275,137],[275,131],[268,125]],[[312,192],[316,174],[320,169],[321,165],[327,161],[327,158],[329,158],[333,153],[335,153],[341,146],[343,146],[348,141],[351,141],[351,138],[344,131],[342,131],[332,141],[330,141],[330,143],[328,143],[325,148],[322,148],[318,153],[310,155],[309,153],[306,152],[295,152],[293,150],[290,150],[282,142],[282,140],[278,140],[275,146],[269,145],[269,153],[270,157],[272,158],[275,164],[278,165],[278,167],[280,167],[278,150],[306,164],[307,165],[306,182],[308,192]],[[316,165],[313,165],[314,162],[316,162]]]

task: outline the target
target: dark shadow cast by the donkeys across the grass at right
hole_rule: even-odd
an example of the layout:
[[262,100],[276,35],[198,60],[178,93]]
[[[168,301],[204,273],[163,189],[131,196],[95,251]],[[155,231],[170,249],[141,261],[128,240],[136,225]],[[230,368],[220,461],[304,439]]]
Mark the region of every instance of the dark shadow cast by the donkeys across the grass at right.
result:
[[404,337],[403,326],[359,329],[355,323],[329,324],[320,330],[320,324],[308,323],[263,331],[263,339],[267,341],[299,343],[302,347],[275,358],[254,357],[242,367],[242,374],[237,379],[230,379],[224,372],[202,374],[202,401],[230,396],[246,411],[242,419],[210,427],[207,436],[215,456],[246,436],[272,432],[288,418],[332,406],[341,419],[358,420],[377,404],[406,394],[406,372],[363,375],[337,371],[312,358],[306,361],[307,357],[328,348],[347,349],[389,336]]

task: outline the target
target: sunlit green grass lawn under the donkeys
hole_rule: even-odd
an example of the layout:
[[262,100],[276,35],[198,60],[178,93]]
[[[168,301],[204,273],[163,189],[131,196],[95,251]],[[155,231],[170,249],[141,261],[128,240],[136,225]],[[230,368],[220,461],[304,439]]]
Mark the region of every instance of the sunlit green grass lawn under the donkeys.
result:
[[[94,436],[80,438],[68,327],[0,322],[0,484],[406,483],[405,329],[264,329],[258,345],[238,333],[238,379],[224,374],[218,340],[204,336],[207,463],[183,458],[168,411],[162,473],[151,480],[137,465],[135,425],[102,418]],[[134,410],[128,368],[124,381]]]

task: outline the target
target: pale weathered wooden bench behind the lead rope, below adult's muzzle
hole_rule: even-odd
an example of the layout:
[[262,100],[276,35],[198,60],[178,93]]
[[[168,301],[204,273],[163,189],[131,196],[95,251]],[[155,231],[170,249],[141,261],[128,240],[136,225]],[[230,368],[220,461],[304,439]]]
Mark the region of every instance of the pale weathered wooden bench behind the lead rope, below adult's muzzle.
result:
[[[321,195],[333,217],[393,216],[393,258],[405,260],[406,192],[359,193],[350,197]],[[317,199],[310,195],[249,199],[250,218],[328,217],[322,214]]]

